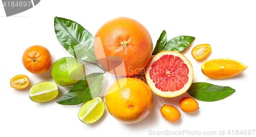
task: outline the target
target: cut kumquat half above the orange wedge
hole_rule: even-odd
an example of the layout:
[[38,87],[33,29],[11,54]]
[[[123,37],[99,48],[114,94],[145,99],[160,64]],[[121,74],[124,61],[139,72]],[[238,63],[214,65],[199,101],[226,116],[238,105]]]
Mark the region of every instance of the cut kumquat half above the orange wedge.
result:
[[209,54],[210,51],[211,51],[211,47],[210,47],[209,44],[201,44],[201,45],[195,46],[192,49],[191,54],[192,54],[194,59],[201,60],[204,57],[206,57],[207,54]]

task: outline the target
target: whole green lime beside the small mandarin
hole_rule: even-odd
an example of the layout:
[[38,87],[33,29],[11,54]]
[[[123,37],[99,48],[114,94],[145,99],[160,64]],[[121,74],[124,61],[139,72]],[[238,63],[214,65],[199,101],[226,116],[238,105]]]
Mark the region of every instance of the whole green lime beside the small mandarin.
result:
[[86,67],[73,57],[64,57],[52,65],[51,75],[56,84],[62,87],[72,87],[86,73]]

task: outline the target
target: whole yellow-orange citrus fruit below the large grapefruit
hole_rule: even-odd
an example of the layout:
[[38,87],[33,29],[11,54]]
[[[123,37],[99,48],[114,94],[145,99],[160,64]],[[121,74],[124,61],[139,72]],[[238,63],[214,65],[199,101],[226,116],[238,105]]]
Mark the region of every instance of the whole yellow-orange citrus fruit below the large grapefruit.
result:
[[153,94],[143,80],[124,77],[110,86],[106,92],[105,103],[115,119],[132,124],[141,121],[150,113]]

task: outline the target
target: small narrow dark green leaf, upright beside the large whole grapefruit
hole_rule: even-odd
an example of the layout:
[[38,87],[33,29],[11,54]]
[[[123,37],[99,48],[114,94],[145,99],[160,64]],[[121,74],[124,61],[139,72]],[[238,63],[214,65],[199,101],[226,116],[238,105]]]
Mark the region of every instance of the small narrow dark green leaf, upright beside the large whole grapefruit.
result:
[[157,40],[157,44],[156,44],[156,47],[154,48],[154,51],[153,51],[153,55],[159,53],[162,51],[162,49],[164,48],[165,44],[167,42],[167,37],[166,37],[166,32],[163,31],[159,37],[159,39]]

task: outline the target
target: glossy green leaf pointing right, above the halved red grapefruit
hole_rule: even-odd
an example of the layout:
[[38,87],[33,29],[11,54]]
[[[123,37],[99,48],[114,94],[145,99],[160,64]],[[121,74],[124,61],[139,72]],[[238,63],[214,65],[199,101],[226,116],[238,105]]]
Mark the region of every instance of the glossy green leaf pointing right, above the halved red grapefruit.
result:
[[173,50],[177,52],[181,52],[185,48],[187,48],[196,38],[190,36],[177,36],[171,40],[169,40],[162,51]]

